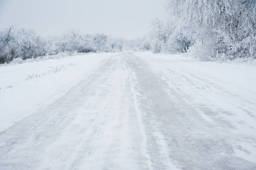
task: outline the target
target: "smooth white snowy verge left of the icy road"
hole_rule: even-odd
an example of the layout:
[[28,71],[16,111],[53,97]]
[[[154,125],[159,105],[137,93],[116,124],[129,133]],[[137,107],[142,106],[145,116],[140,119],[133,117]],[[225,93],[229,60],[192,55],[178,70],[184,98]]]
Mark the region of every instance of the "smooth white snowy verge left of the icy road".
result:
[[29,116],[41,104],[64,95],[111,53],[101,56],[90,54],[0,67],[0,131]]

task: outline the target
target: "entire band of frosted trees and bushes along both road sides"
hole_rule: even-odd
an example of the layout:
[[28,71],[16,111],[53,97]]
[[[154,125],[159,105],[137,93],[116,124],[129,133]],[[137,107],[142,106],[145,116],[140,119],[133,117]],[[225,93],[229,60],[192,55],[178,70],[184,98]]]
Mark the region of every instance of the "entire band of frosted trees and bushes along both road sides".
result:
[[41,37],[10,26],[0,31],[0,63],[61,52],[188,53],[203,61],[256,58],[256,1],[167,0],[166,20],[154,19],[152,32],[135,40],[104,34],[82,35],[69,29],[62,36]]

